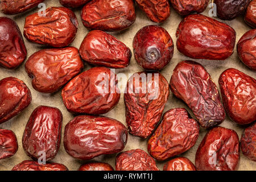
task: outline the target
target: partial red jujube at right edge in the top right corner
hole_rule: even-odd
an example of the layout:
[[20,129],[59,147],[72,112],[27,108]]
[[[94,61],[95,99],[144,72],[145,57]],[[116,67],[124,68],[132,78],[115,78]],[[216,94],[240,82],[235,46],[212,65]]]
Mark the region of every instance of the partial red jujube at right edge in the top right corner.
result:
[[244,19],[249,26],[256,28],[256,0],[251,1],[247,6]]

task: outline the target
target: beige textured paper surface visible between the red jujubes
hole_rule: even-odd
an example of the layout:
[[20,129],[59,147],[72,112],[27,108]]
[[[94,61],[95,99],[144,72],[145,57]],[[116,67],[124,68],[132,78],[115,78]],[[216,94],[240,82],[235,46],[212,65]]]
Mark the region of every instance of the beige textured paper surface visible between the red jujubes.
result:
[[[46,7],[50,6],[61,6],[58,0],[46,0],[44,3],[46,3]],[[141,29],[144,26],[150,25],[150,24],[157,24],[151,22],[149,19],[147,19],[146,15],[138,8],[136,8],[136,13],[137,13],[137,19],[133,26],[128,28],[125,31],[121,32],[111,32],[110,34],[114,35],[117,39],[121,40],[123,43],[125,43],[131,50],[133,50],[132,43],[133,43],[133,38],[136,32]],[[23,33],[23,27],[24,27],[24,20],[27,15],[30,15],[32,13],[36,13],[39,9],[35,8],[32,9],[31,11],[27,11],[26,13],[18,14],[18,15],[4,15],[0,13],[0,16],[7,16],[9,18],[12,18],[15,20],[16,23],[18,23],[18,26],[20,30]],[[207,10],[204,11],[204,15],[208,15],[208,11],[210,9],[207,8]],[[80,44],[82,40],[84,39],[84,36],[87,34],[88,30],[83,26],[80,18],[80,11],[81,8],[79,9],[74,9],[75,14],[77,16],[77,19],[79,20],[79,29],[77,31],[77,36],[74,42],[70,46],[74,46],[76,48],[80,47]],[[166,28],[166,30],[169,32],[169,34],[172,37],[172,40],[174,40],[174,57],[172,58],[170,64],[167,65],[166,68],[164,68],[162,71],[160,71],[164,77],[166,77],[167,81],[170,81],[172,71],[177,65],[182,60],[193,60],[190,59],[189,57],[186,57],[182,55],[179,51],[176,49],[176,28],[181,20],[181,16],[175,12],[174,9],[171,8],[171,15],[168,20],[160,26]],[[216,18],[217,19],[217,18]],[[220,20],[220,19],[218,19]],[[250,30],[250,27],[243,22],[242,16],[236,18],[235,20],[232,21],[222,21],[234,28],[237,32],[237,40],[241,38],[241,36],[248,30]],[[29,57],[32,53],[42,49],[42,46],[38,46],[36,44],[32,44],[28,42],[26,39],[24,39],[27,51],[28,51],[28,56]],[[229,57],[229,59],[224,60],[224,61],[214,61],[214,60],[195,60],[198,63],[202,64],[207,71],[209,72],[210,76],[212,76],[213,81],[217,84],[218,89],[220,88],[218,85],[218,77],[220,74],[227,68],[237,68],[240,71],[246,73],[247,75],[256,78],[256,72],[251,71],[249,68],[247,68],[238,58],[236,48],[234,49],[234,53],[232,56]],[[26,62],[26,61],[24,61]],[[90,68],[90,65],[85,63],[85,69],[87,70]],[[131,62],[129,67],[125,69],[116,69],[116,73],[125,73],[128,77],[129,73],[135,73],[138,71],[142,71],[143,69],[139,67],[139,65],[136,63],[134,56],[131,57]],[[46,106],[55,106],[58,107],[62,114],[63,114],[63,129],[62,129],[62,138],[64,134],[64,127],[65,125],[73,119],[73,115],[67,111],[65,108],[60,91],[54,94],[43,94],[39,93],[36,90],[34,90],[31,86],[31,79],[27,76],[27,73],[24,70],[24,63],[20,65],[20,67],[16,70],[8,70],[4,68],[0,68],[0,79],[9,77],[9,76],[14,76],[17,77],[21,80],[23,80],[28,88],[31,90],[32,94],[32,103],[25,109],[22,113],[14,117],[13,119],[10,119],[10,121],[7,121],[0,125],[0,128],[3,129],[10,129],[13,130],[14,133],[17,136],[18,139],[18,144],[19,144],[19,150],[16,152],[16,154],[9,158],[9,159],[3,159],[0,160],[0,170],[11,170],[16,164],[22,162],[23,160],[30,160],[30,157],[28,157],[25,152],[23,151],[22,148],[22,135],[24,131],[24,127],[26,126],[26,123],[28,121],[28,118],[30,117],[30,114],[32,111],[39,105],[46,105]],[[126,80],[123,80],[123,82],[126,82]],[[124,85],[124,84],[122,84]],[[172,93],[170,94],[170,98],[164,108],[164,112],[175,108],[175,107],[185,107],[189,113],[191,113],[192,117],[193,114],[191,110],[179,99],[177,99]],[[117,106],[114,107],[113,110],[111,110],[109,113],[104,114],[105,116],[112,117],[115,119],[118,119],[118,121],[121,121],[122,123],[125,123],[125,105],[123,103],[123,94],[121,94],[121,98],[119,100],[119,103]],[[195,117],[194,117],[195,118]],[[233,129],[237,131],[237,134],[239,137],[241,137],[243,127],[236,125],[236,123],[232,122],[229,117],[226,117],[225,121],[220,125],[223,127],[227,127],[229,129]],[[200,128],[200,136],[199,139],[197,140],[195,146],[182,154],[181,156],[185,156],[188,159],[190,159],[194,164],[195,164],[195,154],[197,147],[199,146],[201,140],[203,139],[204,135],[206,133],[206,130],[203,128]],[[147,140],[146,139],[141,139],[139,137],[134,137],[129,134],[128,141],[126,144],[126,147],[123,151],[126,150],[131,150],[135,148],[141,148],[144,151],[147,151]],[[104,156],[99,156],[97,158],[94,158],[94,161],[98,162],[107,162],[109,163],[112,167],[114,167],[115,164],[115,155],[104,155]],[[68,167],[69,170],[77,170],[81,164],[85,163],[85,161],[82,160],[77,160],[75,158],[72,158],[65,152],[64,146],[63,146],[63,140],[61,140],[61,146],[60,150],[56,156],[55,159],[53,159],[51,162],[56,162],[56,163],[62,163],[65,164],[65,166]],[[163,165],[166,162],[157,162],[157,165],[160,170],[163,169]],[[240,159],[240,170],[256,170],[256,162],[253,162],[252,160],[247,159],[241,152],[241,159]]]

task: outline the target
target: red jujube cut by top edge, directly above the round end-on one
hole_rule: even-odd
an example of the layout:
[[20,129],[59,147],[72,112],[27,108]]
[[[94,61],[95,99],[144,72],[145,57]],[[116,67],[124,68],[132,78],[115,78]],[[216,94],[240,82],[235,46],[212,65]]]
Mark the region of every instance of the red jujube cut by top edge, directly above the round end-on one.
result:
[[147,17],[156,23],[164,22],[170,16],[168,0],[135,0]]

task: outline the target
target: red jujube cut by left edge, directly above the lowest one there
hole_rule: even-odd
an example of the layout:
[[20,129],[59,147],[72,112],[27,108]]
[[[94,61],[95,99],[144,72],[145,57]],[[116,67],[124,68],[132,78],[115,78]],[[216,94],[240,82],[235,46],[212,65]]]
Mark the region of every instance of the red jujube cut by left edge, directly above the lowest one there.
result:
[[32,100],[30,89],[15,77],[0,80],[0,96],[0,124],[26,109]]

